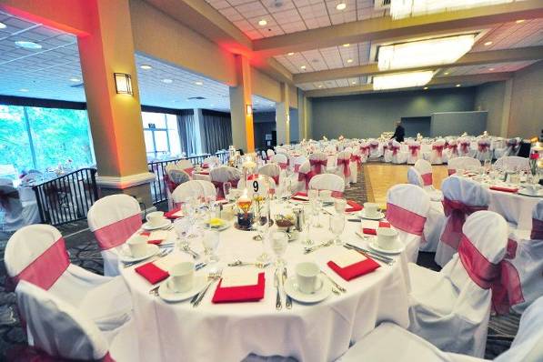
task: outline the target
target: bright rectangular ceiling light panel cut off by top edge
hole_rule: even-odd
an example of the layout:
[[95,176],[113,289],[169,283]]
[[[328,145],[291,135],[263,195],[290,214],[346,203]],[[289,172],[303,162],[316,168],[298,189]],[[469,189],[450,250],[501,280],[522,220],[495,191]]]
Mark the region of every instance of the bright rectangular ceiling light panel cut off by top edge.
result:
[[391,0],[393,19],[468,9],[478,6],[513,3],[516,0]]

